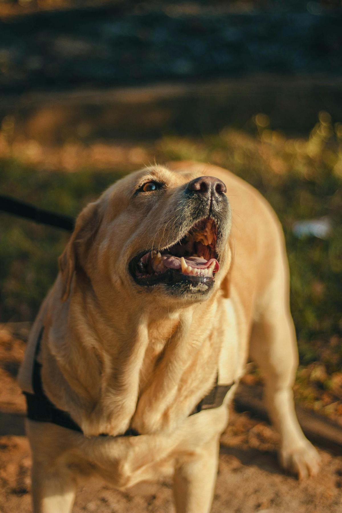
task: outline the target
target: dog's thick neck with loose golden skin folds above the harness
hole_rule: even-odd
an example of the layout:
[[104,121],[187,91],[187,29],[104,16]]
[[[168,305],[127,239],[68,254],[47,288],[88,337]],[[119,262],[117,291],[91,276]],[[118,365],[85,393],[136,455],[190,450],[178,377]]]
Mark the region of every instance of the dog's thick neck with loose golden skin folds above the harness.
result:
[[174,429],[211,388],[220,349],[209,322],[215,296],[169,313],[139,299],[111,305],[77,286],[68,303],[67,330],[51,333],[49,348],[69,385],[63,406],[85,435]]

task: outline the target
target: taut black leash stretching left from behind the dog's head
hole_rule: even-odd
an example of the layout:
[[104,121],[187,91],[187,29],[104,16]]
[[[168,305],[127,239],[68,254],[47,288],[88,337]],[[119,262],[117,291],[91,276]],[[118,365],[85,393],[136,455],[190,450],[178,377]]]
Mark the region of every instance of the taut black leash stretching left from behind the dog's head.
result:
[[35,207],[24,201],[15,200],[14,198],[1,194],[0,210],[8,214],[17,215],[21,218],[31,219],[36,223],[63,228],[68,231],[74,229],[75,220],[69,215],[49,212],[49,210],[44,210],[43,208]]

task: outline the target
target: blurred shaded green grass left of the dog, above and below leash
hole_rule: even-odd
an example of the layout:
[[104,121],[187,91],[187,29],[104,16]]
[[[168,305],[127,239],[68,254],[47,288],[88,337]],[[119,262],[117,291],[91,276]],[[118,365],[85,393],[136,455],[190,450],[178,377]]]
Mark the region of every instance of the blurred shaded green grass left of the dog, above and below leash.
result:
[[[37,172],[14,159],[0,160],[3,194],[72,216],[120,176],[119,171]],[[2,213],[0,224],[0,321],[33,320],[70,233]]]

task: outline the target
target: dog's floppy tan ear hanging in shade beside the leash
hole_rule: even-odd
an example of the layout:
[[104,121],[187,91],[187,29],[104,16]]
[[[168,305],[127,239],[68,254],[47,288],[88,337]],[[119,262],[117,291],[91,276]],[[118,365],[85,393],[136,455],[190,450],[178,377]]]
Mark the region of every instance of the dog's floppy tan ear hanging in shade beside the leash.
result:
[[87,243],[92,240],[98,225],[98,203],[89,203],[78,215],[73,234],[58,259],[63,284],[62,301],[66,301],[69,297],[72,277],[79,263],[79,254],[82,249],[86,249]]

